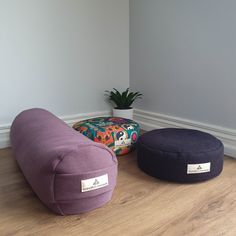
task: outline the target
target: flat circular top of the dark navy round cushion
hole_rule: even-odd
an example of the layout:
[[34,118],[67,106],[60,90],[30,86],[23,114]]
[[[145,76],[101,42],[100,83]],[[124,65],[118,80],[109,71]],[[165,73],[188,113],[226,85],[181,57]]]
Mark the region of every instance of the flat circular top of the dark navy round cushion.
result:
[[213,135],[192,129],[165,128],[143,134],[143,145],[167,152],[201,153],[218,149],[220,140]]

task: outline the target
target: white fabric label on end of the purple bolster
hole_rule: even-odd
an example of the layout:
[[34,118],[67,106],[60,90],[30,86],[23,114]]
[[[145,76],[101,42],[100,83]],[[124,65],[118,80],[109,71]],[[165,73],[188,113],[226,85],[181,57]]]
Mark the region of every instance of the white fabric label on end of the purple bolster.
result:
[[108,174],[91,179],[84,179],[81,180],[81,192],[88,192],[95,189],[103,188],[108,184]]

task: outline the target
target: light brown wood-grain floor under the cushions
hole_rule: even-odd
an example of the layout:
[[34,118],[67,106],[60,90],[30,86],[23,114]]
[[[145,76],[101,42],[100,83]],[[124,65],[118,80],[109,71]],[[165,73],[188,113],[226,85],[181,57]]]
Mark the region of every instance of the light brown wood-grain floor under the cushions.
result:
[[0,235],[236,235],[236,160],[199,184],[174,184],[142,173],[135,153],[118,158],[118,183],[104,207],[57,216],[23,178],[10,149],[0,150]]

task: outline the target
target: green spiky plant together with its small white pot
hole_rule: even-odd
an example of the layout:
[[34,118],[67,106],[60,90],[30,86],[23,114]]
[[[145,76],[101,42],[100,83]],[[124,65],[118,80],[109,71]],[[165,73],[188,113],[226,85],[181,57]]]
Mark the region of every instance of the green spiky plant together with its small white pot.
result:
[[108,96],[110,102],[115,104],[113,108],[114,117],[123,117],[126,119],[133,119],[133,102],[142,98],[140,92],[131,92],[127,88],[124,92],[119,92],[117,89],[113,88],[111,91],[105,91],[105,94]]

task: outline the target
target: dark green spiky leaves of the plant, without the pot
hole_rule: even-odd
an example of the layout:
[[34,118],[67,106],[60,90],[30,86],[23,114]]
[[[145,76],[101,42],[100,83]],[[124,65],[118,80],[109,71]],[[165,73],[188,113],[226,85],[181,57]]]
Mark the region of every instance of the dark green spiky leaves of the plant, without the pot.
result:
[[131,92],[129,88],[124,92],[119,92],[115,88],[111,91],[106,90],[105,95],[107,95],[108,99],[115,104],[116,109],[131,109],[133,102],[143,96],[140,92]]

